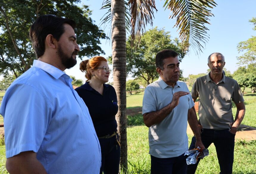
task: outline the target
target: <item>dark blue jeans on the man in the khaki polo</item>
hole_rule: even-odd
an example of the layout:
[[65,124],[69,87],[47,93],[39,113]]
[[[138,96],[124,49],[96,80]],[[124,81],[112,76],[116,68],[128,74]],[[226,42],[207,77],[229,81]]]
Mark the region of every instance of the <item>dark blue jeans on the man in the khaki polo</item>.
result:
[[[208,148],[212,143],[214,143],[221,170],[220,174],[232,174],[235,134],[231,134],[230,129],[202,129],[201,139],[205,148]],[[195,142],[196,138],[194,136],[192,138],[189,150],[195,148]],[[199,161],[200,159],[198,159],[196,164],[188,165],[187,174],[194,174],[196,172],[196,167]]]

